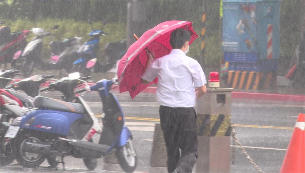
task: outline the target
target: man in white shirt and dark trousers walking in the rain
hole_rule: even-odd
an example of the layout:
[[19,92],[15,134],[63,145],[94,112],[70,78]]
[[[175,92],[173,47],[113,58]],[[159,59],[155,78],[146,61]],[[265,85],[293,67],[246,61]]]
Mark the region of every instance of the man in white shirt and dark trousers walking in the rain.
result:
[[142,83],[159,79],[157,101],[167,146],[168,172],[192,172],[198,157],[194,106],[196,99],[206,93],[206,78],[200,64],[186,56],[190,38],[187,30],[178,28],[170,35],[173,48],[170,54],[155,60],[154,54],[146,50],[148,61]]

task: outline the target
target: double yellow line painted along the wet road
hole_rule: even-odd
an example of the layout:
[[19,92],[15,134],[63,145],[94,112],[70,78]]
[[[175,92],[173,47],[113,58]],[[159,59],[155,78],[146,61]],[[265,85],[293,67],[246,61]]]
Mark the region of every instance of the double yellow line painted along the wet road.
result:
[[[95,115],[96,117],[101,117],[101,115]],[[140,118],[140,117],[131,117],[126,116],[127,120],[142,120],[142,121],[160,121],[157,118]],[[247,125],[247,124],[232,124],[234,127],[251,127],[251,128],[267,128],[267,129],[283,129],[283,130],[293,130],[294,127],[278,127],[278,126],[258,126],[258,125]]]

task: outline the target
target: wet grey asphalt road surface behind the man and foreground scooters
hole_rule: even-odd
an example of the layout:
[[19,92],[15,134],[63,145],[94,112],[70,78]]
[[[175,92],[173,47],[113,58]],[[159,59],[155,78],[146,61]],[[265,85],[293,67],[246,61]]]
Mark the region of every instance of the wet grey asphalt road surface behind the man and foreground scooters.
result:
[[[149,167],[152,147],[154,123],[158,121],[159,105],[155,94],[140,94],[134,101],[127,93],[117,95],[126,116],[126,125],[134,135],[134,145],[138,155],[138,172],[164,172],[166,169]],[[60,99],[59,92],[42,94]],[[100,98],[96,93],[87,93],[83,98],[88,101],[95,114],[102,114]],[[253,101],[247,99],[233,100],[231,107],[231,123],[234,124],[237,136],[251,158],[264,172],[279,172],[286,153],[293,126],[299,113],[305,112],[304,103],[276,101]],[[231,151],[235,149],[235,164],[231,172],[257,172],[246,157],[231,142]],[[92,172],[87,171],[81,159],[66,157],[67,170],[59,165],[59,172]],[[16,162],[14,162],[16,163]],[[0,172],[55,172],[47,167],[45,161],[37,169],[22,168],[19,165],[1,167]],[[103,171],[106,170],[106,171]],[[103,158],[94,172],[122,171],[116,164],[103,164]],[[57,171],[57,172],[58,172]],[[195,171],[195,170],[194,170]]]

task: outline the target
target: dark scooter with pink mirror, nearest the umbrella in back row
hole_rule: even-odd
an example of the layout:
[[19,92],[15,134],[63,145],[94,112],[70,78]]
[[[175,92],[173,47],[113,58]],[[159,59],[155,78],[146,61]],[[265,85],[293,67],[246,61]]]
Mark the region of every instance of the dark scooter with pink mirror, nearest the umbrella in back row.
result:
[[108,43],[105,46],[104,53],[106,55],[106,61],[99,63],[97,58],[93,58],[87,62],[87,75],[90,72],[107,72],[116,65],[116,62],[120,60],[127,51],[127,40],[121,40],[119,42]]

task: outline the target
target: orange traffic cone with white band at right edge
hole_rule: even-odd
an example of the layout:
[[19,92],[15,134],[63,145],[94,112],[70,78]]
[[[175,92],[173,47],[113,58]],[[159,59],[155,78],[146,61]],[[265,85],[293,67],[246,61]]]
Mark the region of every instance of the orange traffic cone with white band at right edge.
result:
[[305,172],[305,114],[299,114],[294,127],[281,173]]

